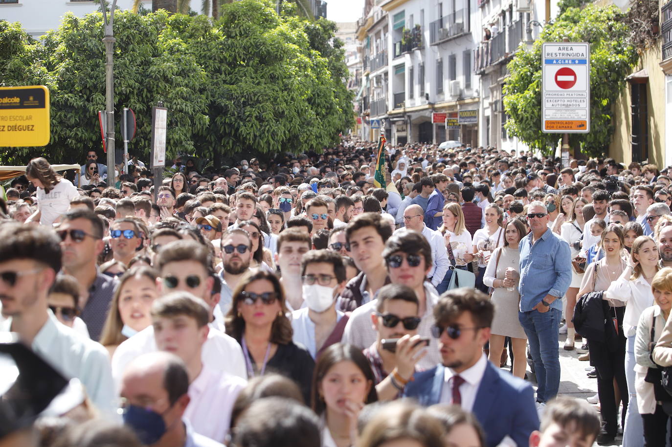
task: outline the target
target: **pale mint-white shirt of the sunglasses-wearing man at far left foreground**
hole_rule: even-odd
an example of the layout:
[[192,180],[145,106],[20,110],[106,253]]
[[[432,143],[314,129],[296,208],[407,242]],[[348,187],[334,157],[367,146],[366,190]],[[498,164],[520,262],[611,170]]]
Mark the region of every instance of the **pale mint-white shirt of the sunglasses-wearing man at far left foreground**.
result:
[[[61,324],[51,311],[30,348],[66,378],[76,377],[87,395],[105,417],[115,417],[118,395],[112,380],[110,357],[100,343],[79,335]],[[11,329],[11,318],[3,321],[1,331]]]

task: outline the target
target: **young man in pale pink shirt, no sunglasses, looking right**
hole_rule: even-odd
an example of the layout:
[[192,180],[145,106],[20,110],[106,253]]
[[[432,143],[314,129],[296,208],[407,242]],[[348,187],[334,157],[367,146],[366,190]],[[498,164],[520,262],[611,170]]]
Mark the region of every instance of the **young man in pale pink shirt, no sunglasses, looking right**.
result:
[[196,433],[224,442],[233,404],[247,380],[203,364],[201,350],[210,329],[208,305],[189,292],[173,292],[155,300],[151,314],[157,348],[176,354],[187,366],[190,401],[184,418]]

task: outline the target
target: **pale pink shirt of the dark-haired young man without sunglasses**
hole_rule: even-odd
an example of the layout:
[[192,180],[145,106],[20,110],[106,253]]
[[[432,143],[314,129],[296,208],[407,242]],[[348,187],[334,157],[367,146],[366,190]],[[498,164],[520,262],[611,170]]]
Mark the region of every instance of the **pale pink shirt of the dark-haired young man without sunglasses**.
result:
[[190,402],[184,412],[194,432],[224,442],[231,422],[231,411],[247,380],[203,366],[189,386]]

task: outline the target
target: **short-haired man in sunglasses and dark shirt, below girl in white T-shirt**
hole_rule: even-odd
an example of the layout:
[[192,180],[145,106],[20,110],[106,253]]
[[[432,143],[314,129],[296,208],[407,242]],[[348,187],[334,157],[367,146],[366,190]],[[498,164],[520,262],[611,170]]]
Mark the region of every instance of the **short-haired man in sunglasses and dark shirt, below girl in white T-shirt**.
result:
[[93,211],[79,208],[65,214],[56,234],[60,237],[63,272],[79,282],[81,319],[91,339],[98,340],[112,301],[116,278],[103,275],[97,267],[103,251],[103,222]]

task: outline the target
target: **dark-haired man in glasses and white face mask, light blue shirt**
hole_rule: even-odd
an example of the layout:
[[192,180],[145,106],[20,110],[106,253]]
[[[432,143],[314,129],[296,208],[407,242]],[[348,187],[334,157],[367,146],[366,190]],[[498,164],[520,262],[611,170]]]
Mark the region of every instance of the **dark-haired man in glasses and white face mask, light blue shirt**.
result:
[[313,250],[302,257],[300,268],[306,307],[292,312],[292,339],[317,358],[343,337],[348,317],[337,311],[336,302],[345,288],[345,266],[337,253]]

